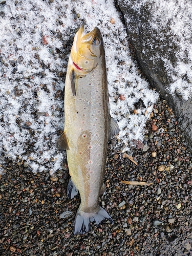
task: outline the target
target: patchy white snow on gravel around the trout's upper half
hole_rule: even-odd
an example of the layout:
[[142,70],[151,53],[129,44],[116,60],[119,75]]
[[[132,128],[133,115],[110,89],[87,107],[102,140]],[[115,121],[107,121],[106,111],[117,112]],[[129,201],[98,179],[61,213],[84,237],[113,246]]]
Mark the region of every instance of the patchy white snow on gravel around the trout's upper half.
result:
[[[84,8],[82,8],[82,6]],[[63,94],[76,29],[97,26],[103,36],[111,115],[119,147],[144,136],[158,98],[131,58],[125,27],[113,1],[12,1],[0,4],[0,158],[34,173],[61,168],[55,146],[63,130]],[[136,112],[134,112],[136,110]]]

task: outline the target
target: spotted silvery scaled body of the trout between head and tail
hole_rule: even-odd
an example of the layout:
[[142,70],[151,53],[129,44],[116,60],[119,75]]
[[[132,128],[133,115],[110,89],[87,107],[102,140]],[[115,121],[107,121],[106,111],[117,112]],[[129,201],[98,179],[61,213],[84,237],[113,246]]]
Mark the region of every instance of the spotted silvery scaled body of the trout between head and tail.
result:
[[75,78],[76,97],[71,93],[70,77],[66,79],[65,111],[74,114],[65,117],[65,121],[66,130],[70,130],[71,146],[67,151],[70,176],[79,190],[81,207],[86,208],[96,205],[103,184],[109,106],[106,72],[101,65],[79,77]]

